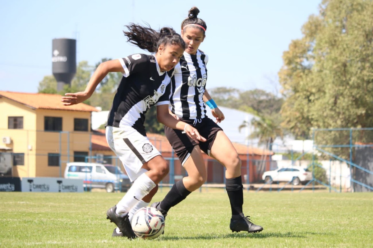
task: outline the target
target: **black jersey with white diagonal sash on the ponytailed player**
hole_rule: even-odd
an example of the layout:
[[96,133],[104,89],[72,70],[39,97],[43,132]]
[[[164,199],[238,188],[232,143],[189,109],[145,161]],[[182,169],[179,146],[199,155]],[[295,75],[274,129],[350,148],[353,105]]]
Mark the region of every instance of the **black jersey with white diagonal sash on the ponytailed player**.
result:
[[173,70],[161,72],[153,55],[133,54],[119,61],[124,73],[114,96],[107,125],[131,126],[146,136],[144,114],[153,105],[169,103]]

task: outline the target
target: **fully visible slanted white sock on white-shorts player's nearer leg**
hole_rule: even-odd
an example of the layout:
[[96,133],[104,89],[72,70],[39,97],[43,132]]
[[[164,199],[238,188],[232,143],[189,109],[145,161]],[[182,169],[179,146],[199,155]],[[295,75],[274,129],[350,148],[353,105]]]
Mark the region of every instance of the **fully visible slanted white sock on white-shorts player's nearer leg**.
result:
[[119,216],[125,216],[128,212],[136,206],[141,199],[150,193],[156,184],[144,173],[138,177],[131,188],[123,196],[122,200],[116,205],[116,214]]

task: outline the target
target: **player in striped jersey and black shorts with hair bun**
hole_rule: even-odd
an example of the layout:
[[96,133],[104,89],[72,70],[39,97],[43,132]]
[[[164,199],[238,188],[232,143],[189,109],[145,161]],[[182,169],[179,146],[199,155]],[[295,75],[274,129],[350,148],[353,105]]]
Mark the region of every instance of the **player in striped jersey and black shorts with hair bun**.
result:
[[[263,228],[252,223],[249,216],[244,216],[242,213],[244,200],[241,160],[232,142],[216,124],[224,120],[224,115],[206,90],[208,57],[198,50],[206,36],[206,23],[197,18],[199,12],[197,7],[192,7],[188,18],[181,23],[181,36],[186,43],[186,48],[171,79],[170,111],[178,120],[197,128],[200,134],[206,137],[207,142],[196,143],[182,131],[165,127],[167,139],[188,172],[188,176],[176,182],[162,201],[151,206],[166,215],[171,207],[201,187],[207,179],[201,153],[203,150],[226,168],[226,191],[231,203],[232,232],[260,232]],[[205,104],[211,108],[216,123],[206,116]]]

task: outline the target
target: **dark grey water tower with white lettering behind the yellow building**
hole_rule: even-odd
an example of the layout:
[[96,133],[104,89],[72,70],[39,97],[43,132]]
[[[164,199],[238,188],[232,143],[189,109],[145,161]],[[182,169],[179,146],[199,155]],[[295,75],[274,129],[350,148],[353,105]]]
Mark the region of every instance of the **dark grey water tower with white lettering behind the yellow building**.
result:
[[70,85],[76,73],[76,40],[52,40],[52,73],[57,80],[57,91]]

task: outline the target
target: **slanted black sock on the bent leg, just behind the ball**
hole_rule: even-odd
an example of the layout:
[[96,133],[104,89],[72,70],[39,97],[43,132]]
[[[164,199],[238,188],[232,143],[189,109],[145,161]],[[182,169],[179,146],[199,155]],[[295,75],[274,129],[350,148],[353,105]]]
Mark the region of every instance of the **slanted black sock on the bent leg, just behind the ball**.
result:
[[183,180],[176,182],[171,190],[167,193],[160,203],[160,208],[164,211],[170,210],[182,200],[184,200],[191,192],[187,190],[183,184]]

